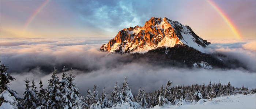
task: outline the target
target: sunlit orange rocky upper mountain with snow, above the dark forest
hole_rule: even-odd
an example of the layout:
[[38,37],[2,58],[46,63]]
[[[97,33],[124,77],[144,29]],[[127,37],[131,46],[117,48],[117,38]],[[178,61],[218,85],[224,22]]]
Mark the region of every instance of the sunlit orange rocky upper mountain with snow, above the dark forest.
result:
[[178,21],[152,17],[143,27],[135,26],[119,31],[114,39],[103,44],[101,51],[118,53],[145,53],[159,47],[188,45],[204,52],[209,42],[197,36],[189,26]]

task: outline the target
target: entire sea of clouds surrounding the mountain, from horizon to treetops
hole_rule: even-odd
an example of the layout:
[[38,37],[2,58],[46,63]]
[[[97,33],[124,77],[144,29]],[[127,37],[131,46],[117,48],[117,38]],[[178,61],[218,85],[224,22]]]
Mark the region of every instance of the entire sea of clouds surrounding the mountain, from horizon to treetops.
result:
[[[41,79],[46,88],[54,66],[59,71],[66,65],[66,72],[73,67],[75,83],[81,95],[88,88],[97,85],[101,93],[103,87],[110,93],[115,82],[121,86],[128,77],[134,94],[138,89],[147,92],[157,90],[168,80],[176,85],[208,84],[209,81],[241,87],[255,88],[256,83],[256,44],[255,40],[210,40],[206,51],[221,53],[235,58],[246,66],[234,69],[176,68],[133,62],[129,55],[109,54],[99,51],[108,37],[93,38],[1,38],[0,61],[7,65],[16,80],[10,87],[22,94],[25,80]],[[61,72],[58,74],[61,77]]]

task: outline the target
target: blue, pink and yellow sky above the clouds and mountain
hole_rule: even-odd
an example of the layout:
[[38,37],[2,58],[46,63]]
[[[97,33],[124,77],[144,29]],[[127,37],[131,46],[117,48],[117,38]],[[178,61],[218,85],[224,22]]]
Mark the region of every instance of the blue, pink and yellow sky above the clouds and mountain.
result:
[[189,25],[206,40],[256,37],[255,0],[1,0],[0,37],[113,38],[151,17]]

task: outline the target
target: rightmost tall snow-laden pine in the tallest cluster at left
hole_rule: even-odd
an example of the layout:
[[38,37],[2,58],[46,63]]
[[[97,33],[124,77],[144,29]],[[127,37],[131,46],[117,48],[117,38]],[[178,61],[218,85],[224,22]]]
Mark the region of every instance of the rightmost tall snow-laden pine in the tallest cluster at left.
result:
[[65,109],[72,109],[78,108],[78,101],[79,101],[79,91],[76,88],[76,85],[73,83],[75,76],[72,76],[72,68],[70,71],[69,76],[67,77],[68,85],[65,86],[65,93],[63,93],[63,108]]

